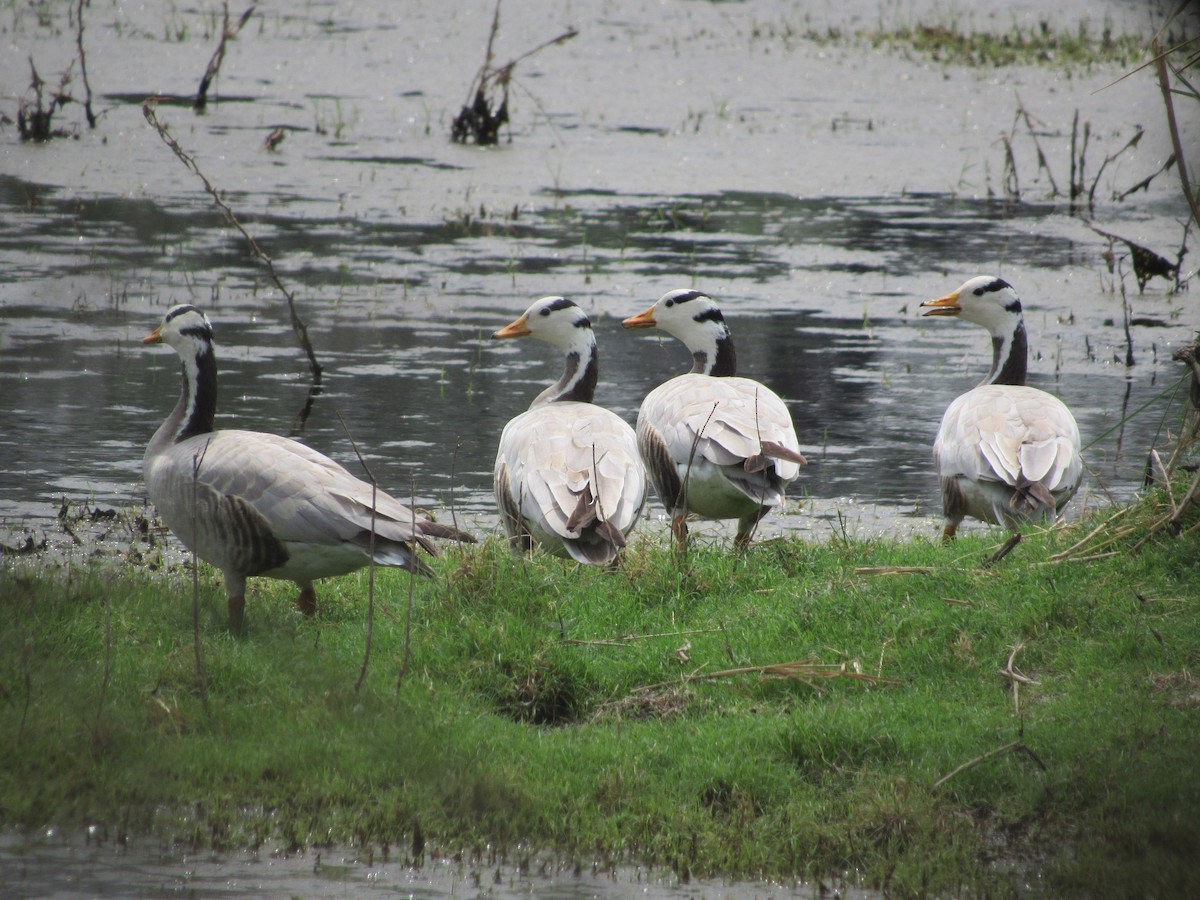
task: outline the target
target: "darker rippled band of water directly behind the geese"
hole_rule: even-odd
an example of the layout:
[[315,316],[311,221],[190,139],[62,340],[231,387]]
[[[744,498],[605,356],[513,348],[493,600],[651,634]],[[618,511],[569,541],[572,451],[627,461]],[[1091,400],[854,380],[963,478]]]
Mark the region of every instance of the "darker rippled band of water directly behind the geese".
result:
[[[31,194],[40,198],[32,206],[26,203]],[[166,210],[121,198],[79,204],[13,178],[0,178],[0,203],[6,206],[2,258],[40,271],[50,292],[68,276],[102,290],[73,299],[28,292],[5,304],[0,510],[10,524],[48,516],[60,497],[140,502],[142,448],[174,401],[178,364],[173,354],[154,353],[138,341],[170,302],[193,300],[214,319],[221,425],[290,431],[308,388],[302,358],[277,301],[222,287],[256,284],[258,274],[238,239],[214,239],[210,210]],[[578,234],[587,235],[589,269],[620,268],[626,277],[629,270],[679,271],[703,242],[704,268],[715,286],[708,289],[727,313],[740,370],[784,396],[811,460],[798,493],[828,502],[854,497],[890,510],[884,518],[932,512],[929,446],[944,406],[982,377],[985,335],[930,328],[916,318],[919,298],[901,292],[853,300],[797,292],[764,308],[762,301],[721,296],[721,288],[750,286],[752,293],[755,284],[786,280],[793,265],[786,257],[794,247],[818,245],[827,269],[840,265],[828,258],[839,248],[870,247],[875,264],[887,260],[893,268],[905,260],[918,269],[954,247],[967,258],[973,251],[953,235],[970,232],[984,240],[979,235],[989,229],[1003,229],[1019,239],[1021,227],[1012,216],[1019,220],[1028,210],[932,196],[802,202],[737,192],[688,198],[680,209],[690,211],[665,211],[660,198],[646,198],[643,205],[623,198],[571,215],[557,208],[527,211],[505,226],[503,238],[480,236],[480,227],[469,223],[368,227],[337,217],[301,223],[263,216],[256,228],[271,235],[277,252],[308,260],[289,277],[312,296],[302,298],[300,308],[310,317],[326,374],[305,439],[356,468],[340,412],[389,491],[452,506],[455,515],[479,517],[488,528],[497,436],[557,376],[558,360],[487,340],[527,304],[526,288],[448,298],[421,286],[436,286],[451,270],[494,280],[505,266],[518,268],[522,283],[552,282],[578,269],[580,259],[564,252],[576,246]],[[73,251],[80,236],[86,258]],[[1069,252],[1058,246],[1066,241],[1033,244],[1031,254]],[[164,246],[186,246],[203,276],[172,269],[148,306],[144,294],[162,269]],[[410,266],[396,262],[404,256]],[[106,274],[118,271],[120,282],[103,284]],[[142,296],[131,300],[131,294]],[[620,317],[653,295],[622,299],[600,292],[576,299],[595,319],[598,402],[632,421],[648,390],[686,368],[686,353],[676,342],[620,329]],[[1087,334],[1096,313],[1064,325],[1051,318],[1054,307],[1031,307],[1034,328],[1049,326],[1060,342],[1082,331],[1079,343],[1091,353]],[[1075,408],[1085,440],[1153,396],[1154,371],[1134,370],[1126,378],[1123,370],[1097,364],[1094,354],[1081,358],[1080,346],[1064,352],[1046,340],[1038,334],[1034,348],[1043,356],[1056,354],[1057,371],[1048,383],[1043,365],[1034,380]],[[1132,422],[1090,452],[1117,494],[1132,490],[1132,472],[1140,468],[1153,427]],[[784,524],[811,527],[803,516]]]

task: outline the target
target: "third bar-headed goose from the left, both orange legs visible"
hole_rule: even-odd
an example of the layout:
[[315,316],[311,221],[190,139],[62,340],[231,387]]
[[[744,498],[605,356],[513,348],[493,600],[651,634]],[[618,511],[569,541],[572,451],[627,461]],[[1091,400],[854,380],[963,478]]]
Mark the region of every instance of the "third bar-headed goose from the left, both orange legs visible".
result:
[[737,518],[734,544],[744,550],[805,462],[787,407],[737,377],[733,338],[707,294],[672,290],[622,324],[661,328],[691,350],[691,371],[650,391],[637,414],[637,445],[672,533],[684,546],[689,511]]

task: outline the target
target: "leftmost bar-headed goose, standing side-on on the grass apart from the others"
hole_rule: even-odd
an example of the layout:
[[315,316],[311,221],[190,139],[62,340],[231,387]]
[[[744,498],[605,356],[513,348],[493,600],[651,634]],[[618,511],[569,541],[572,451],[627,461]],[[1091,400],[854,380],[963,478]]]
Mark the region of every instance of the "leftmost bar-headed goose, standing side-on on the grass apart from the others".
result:
[[[175,306],[143,343],[169,344],[182,361],[174,410],[146,446],[146,492],[172,532],[224,575],[229,626],[244,629],[246,578],[294,581],[298,606],[317,608],[313,581],[370,562],[428,574],[416,547],[428,538],[473,540],[414,516],[304,444],[258,431],[214,431],[217,362],[212,326],[194,306]],[[372,521],[373,520],[373,521]]]

